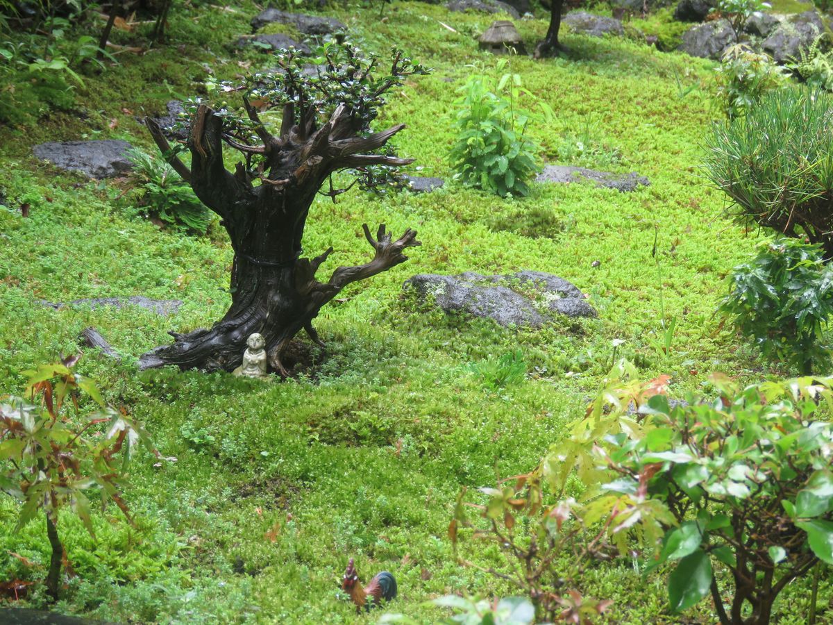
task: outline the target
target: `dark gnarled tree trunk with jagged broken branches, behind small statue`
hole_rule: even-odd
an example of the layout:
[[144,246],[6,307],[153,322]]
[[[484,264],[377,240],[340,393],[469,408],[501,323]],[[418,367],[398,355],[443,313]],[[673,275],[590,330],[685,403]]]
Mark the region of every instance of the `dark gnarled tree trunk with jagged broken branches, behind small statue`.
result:
[[[296,118],[292,103],[284,107],[281,136],[272,136],[262,125],[257,111],[244,100],[262,146],[246,146],[222,131],[222,119],[201,105],[192,119],[188,148],[192,167],[170,153],[170,146],[158,126],[147,120],[154,140],[168,163],[185,178],[202,203],[222,218],[234,250],[231,292],[232,306],[211,329],[176,334],[171,345],[153,349],[140,358],[141,368],[177,365],[180,368],[231,371],[242,362],[246,341],[252,333],[266,340],[272,370],[287,375],[281,353],[302,328],[321,343],[312,328],[318,311],[347,284],[370,278],[403,263],[403,250],[419,245],[416,232],[408,229],[392,241],[382,225],[377,238],[365,224],[368,243],[375,250],[369,263],[337,268],[322,283],[317,268],[332,248],[317,258],[301,258],[302,235],[307,213],[327,178],[338,169],[362,168],[373,164],[404,165],[411,160],[361,152],[382,147],[404,125],[382,133],[358,136],[356,122],[347,107],[339,106],[327,123],[315,128],[312,107]],[[222,162],[222,142],[243,153],[263,154],[260,185],[238,164],[230,173]]]

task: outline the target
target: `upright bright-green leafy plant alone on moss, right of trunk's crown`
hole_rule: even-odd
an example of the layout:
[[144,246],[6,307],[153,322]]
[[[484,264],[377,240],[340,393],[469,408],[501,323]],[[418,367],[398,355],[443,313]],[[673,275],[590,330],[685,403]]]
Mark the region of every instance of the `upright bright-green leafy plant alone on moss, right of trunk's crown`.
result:
[[[505,64],[501,59],[498,70]],[[495,92],[486,87],[484,77],[472,76],[461,91],[458,134],[449,153],[457,177],[501,198],[529,195],[527,183],[537,172],[536,147],[525,134],[531,114],[516,107],[521,93],[531,96],[521,87],[521,76],[504,74]]]

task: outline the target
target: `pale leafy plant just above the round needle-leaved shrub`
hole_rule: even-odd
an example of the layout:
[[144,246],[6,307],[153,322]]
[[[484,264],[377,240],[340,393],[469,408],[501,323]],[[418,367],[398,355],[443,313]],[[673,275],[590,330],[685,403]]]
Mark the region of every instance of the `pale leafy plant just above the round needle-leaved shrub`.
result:
[[789,79],[771,57],[744,44],[728,48],[715,71],[716,102],[730,119],[743,117],[765,93],[783,87]]

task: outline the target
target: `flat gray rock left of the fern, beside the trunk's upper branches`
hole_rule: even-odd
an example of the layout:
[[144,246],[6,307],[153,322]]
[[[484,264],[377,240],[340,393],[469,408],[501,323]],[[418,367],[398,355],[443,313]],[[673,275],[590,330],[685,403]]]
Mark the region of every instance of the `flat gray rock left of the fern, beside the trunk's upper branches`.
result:
[[58,168],[80,172],[87,178],[112,178],[132,168],[125,154],[130,148],[127,141],[103,139],[41,143],[32,152]]

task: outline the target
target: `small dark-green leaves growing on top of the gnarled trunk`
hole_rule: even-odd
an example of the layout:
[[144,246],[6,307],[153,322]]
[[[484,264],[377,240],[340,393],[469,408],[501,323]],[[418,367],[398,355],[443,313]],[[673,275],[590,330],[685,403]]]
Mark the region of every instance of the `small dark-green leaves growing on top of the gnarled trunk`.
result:
[[[223,139],[246,155],[245,170],[252,178],[262,176],[268,168],[261,128],[274,128],[273,134],[283,136],[294,125],[303,127],[311,116],[314,125],[320,127],[336,107],[343,106],[351,112],[354,132],[367,136],[386,103],[387,93],[401,86],[407,77],[431,71],[396,47],[385,60],[349,42],[327,41],[316,52],[316,56],[303,57],[294,49],[281,50],[275,54],[277,68],[271,72],[252,74],[242,83],[222,82],[213,86],[223,95],[242,94],[242,107],[231,106],[225,100],[212,103],[215,114],[222,117]],[[188,117],[193,117],[201,103],[199,99],[187,103]],[[252,116],[250,111],[257,115]],[[291,117],[287,117],[287,112]],[[390,144],[375,152],[395,154]],[[384,190],[397,182],[395,168],[386,165],[368,165],[352,171],[357,174],[360,188],[367,190]],[[346,190],[332,188],[331,181],[331,197]]]

